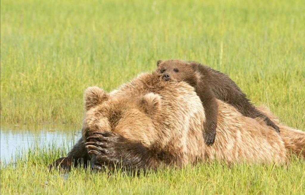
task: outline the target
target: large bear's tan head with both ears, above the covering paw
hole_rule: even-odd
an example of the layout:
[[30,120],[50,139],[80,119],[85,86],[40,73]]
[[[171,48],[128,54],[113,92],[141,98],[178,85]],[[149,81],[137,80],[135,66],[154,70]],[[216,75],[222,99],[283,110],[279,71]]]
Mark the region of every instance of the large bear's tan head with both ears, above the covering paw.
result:
[[153,120],[162,112],[160,95],[147,93],[137,98],[111,98],[99,87],[89,87],[85,91],[84,104],[84,138],[109,131],[149,146],[150,139],[157,136]]

